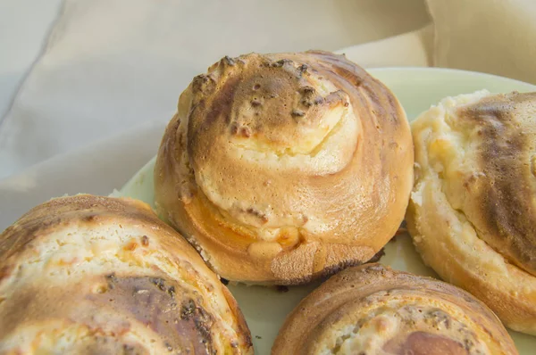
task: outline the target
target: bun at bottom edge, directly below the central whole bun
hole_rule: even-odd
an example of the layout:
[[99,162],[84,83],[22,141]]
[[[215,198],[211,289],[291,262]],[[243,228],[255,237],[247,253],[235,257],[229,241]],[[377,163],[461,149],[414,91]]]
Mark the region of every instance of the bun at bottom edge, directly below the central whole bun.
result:
[[289,314],[272,348],[282,354],[517,354],[481,301],[430,277],[380,264],[347,268]]

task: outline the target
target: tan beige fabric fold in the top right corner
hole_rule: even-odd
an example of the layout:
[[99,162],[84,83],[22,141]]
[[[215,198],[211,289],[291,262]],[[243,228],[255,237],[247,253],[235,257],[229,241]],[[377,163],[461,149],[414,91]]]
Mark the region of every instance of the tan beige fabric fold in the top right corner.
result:
[[536,84],[536,1],[428,0],[433,65]]

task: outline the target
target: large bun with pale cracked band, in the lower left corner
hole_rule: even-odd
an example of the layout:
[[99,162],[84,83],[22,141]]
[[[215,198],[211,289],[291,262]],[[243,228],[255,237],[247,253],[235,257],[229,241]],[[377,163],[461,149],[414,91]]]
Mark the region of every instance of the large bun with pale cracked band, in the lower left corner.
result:
[[39,205],[0,235],[2,354],[251,354],[236,301],[143,202]]

